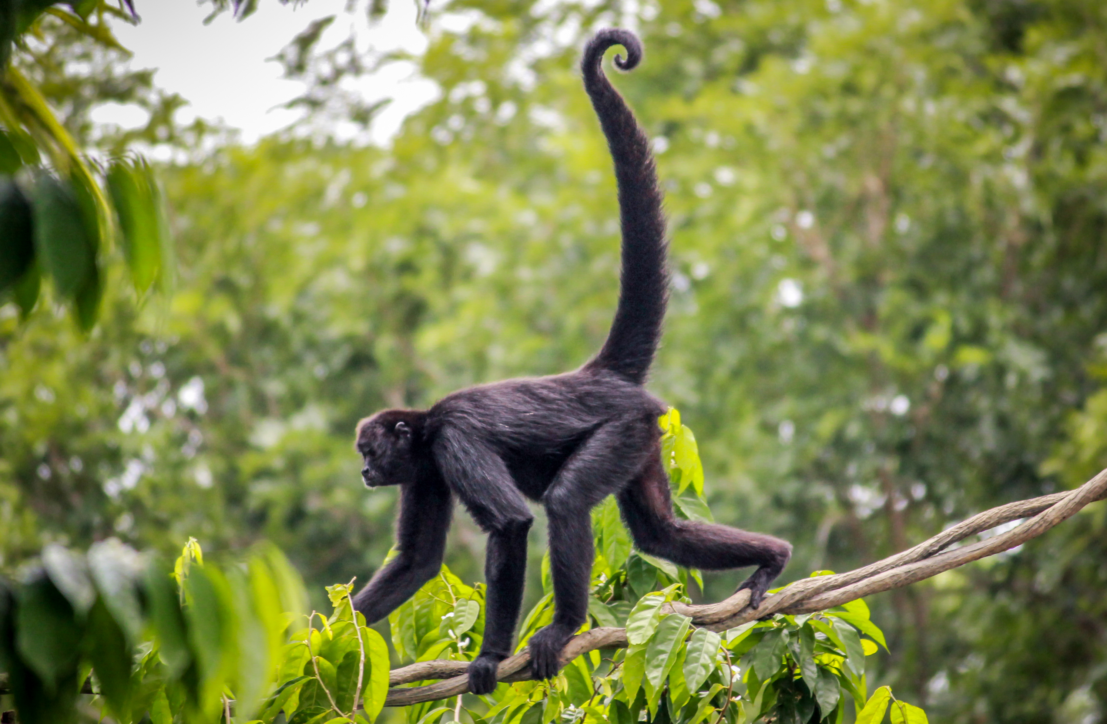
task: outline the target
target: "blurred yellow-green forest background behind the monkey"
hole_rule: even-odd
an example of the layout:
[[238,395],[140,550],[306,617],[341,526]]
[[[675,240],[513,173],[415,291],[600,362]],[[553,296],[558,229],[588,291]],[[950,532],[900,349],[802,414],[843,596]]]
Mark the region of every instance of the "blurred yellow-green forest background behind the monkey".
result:
[[[184,100],[123,51],[44,25],[50,63],[25,72],[82,148],[179,152],[158,169],[175,292],[137,304],[107,263],[91,334],[51,300],[25,322],[0,307],[0,568],[54,541],[269,538],[320,599],[368,580],[395,500],[360,485],[356,420],[562,371],[603,339],[614,184],[576,65],[613,23],[648,49],[615,83],[655,138],[672,234],[651,389],[696,432],[716,520],[793,540],[798,578],[1107,465],[1103,2],[430,10],[408,60],[441,95],[387,148],[178,127]],[[397,59],[340,62],[312,30],[281,55],[302,104],[371,123],[374,107],[328,101]],[[146,128],[89,121],[120,97],[153,111]],[[478,578],[464,515],[451,540],[448,565]],[[704,597],[737,581],[710,577]],[[1105,591],[1100,504],[875,597],[894,653],[870,684],[935,721],[1104,721]]]

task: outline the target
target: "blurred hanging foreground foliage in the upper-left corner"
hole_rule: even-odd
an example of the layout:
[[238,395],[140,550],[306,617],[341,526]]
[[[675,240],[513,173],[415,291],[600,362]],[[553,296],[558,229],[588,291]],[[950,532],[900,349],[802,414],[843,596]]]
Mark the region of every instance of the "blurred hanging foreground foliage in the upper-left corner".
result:
[[[58,3],[61,4],[61,3]],[[11,297],[27,318],[38,303],[41,276],[59,301],[72,304],[82,330],[100,313],[102,257],[118,237],[135,290],[144,294],[167,280],[168,234],[161,192],[149,166],[120,158],[104,174],[58,120],[40,90],[10,59],[14,43],[41,38],[51,22],[64,23],[91,42],[123,50],[105,15],[132,19],[108,0],[65,3],[13,0],[0,10],[0,299]],[[33,53],[28,53],[32,55]],[[18,174],[18,176],[17,176]],[[106,182],[106,184],[105,184]],[[106,194],[104,186],[110,187]],[[30,187],[30,201],[21,186]],[[33,213],[28,221],[28,209]],[[8,266],[10,265],[10,266]]]

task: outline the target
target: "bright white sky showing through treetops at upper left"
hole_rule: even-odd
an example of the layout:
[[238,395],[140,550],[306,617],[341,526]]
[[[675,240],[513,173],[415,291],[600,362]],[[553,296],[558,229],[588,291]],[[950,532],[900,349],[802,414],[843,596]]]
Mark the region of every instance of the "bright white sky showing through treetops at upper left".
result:
[[[359,38],[368,39],[377,50],[417,53],[426,48],[415,24],[412,0],[391,0],[387,14],[372,29],[368,28],[362,8],[354,15],[343,12],[345,0],[310,0],[300,7],[263,0],[259,6],[241,22],[225,13],[205,25],[209,4],[197,6],[195,0],[136,0],[142,22],[137,27],[115,23],[113,30],[120,42],[134,52],[133,68],[158,69],[154,82],[190,102],[179,112],[179,121],[187,123],[195,116],[223,120],[239,128],[247,143],[284,127],[299,115],[298,111],[275,106],[299,95],[303,85],[282,80],[280,64],[266,59],[276,55],[312,20],[338,15],[323,34],[321,46],[340,42],[356,27]],[[364,46],[365,41],[359,44]],[[404,116],[434,99],[435,84],[414,77],[413,70],[411,65],[386,69],[363,79],[358,86],[369,100],[395,99],[374,123],[372,141],[385,143]],[[131,126],[144,121],[144,116],[133,106],[114,105],[99,110],[93,117]],[[343,130],[338,131],[343,135]]]

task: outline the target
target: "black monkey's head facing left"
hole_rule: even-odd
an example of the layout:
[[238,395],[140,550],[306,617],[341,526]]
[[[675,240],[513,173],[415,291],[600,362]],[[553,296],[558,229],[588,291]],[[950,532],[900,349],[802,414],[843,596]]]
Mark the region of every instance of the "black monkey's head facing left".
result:
[[358,423],[354,446],[364,461],[361,479],[368,487],[414,483],[425,413],[384,410]]

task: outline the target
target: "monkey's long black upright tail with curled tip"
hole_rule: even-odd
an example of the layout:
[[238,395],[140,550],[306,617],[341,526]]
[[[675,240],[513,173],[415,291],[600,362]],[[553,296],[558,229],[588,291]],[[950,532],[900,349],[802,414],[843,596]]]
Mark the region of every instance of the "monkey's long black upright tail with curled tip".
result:
[[668,301],[665,218],[650,142],[600,66],[603,52],[612,45],[627,49],[625,60],[614,56],[620,70],[629,71],[642,60],[642,43],[634,33],[608,29],[589,41],[580,63],[584,90],[614,162],[622,225],[619,308],[603,348],[587,366],[612,370],[641,384],[661,339]]

